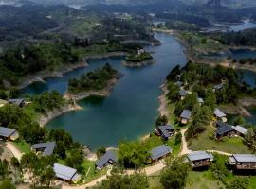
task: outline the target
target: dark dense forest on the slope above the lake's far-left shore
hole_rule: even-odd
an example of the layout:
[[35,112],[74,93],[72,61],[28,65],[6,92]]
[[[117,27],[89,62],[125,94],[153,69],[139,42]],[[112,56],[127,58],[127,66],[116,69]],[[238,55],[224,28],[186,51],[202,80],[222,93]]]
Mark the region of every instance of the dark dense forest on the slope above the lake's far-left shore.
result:
[[27,75],[54,71],[77,60],[78,56],[64,42],[11,47],[0,56],[0,87],[4,87],[4,81],[17,85]]

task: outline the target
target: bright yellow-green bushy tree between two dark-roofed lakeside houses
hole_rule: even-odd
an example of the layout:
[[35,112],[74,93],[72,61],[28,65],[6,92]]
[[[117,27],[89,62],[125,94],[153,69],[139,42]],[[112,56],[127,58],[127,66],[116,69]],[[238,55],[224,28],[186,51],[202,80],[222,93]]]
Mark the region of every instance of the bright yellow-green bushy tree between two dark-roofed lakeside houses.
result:
[[139,142],[122,142],[119,144],[119,163],[125,168],[139,168],[147,163],[148,150]]

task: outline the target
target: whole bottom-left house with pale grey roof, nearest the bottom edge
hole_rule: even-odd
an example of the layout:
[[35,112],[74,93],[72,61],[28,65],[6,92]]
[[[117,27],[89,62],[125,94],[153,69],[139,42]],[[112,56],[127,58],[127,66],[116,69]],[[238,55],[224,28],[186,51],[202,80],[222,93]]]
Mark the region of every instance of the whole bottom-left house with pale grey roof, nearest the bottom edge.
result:
[[65,166],[63,164],[54,163],[53,170],[55,172],[55,176],[64,181],[78,182],[81,179],[81,176],[77,174],[77,169]]

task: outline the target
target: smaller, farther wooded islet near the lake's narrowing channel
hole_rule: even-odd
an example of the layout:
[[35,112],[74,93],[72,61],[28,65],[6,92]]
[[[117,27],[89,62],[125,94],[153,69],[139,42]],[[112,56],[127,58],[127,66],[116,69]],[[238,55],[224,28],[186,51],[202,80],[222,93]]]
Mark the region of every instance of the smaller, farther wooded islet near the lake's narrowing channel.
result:
[[149,52],[140,49],[137,53],[131,53],[125,57],[125,60],[122,62],[124,66],[127,67],[138,67],[142,65],[147,65],[154,63],[153,57]]

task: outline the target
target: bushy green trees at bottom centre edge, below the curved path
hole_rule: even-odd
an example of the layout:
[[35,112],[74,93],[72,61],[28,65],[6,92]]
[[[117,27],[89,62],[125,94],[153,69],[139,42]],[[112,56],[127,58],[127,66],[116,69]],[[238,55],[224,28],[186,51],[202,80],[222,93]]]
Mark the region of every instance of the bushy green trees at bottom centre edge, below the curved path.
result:
[[119,168],[114,168],[107,180],[103,180],[94,189],[146,189],[149,188],[148,178],[143,173],[124,174]]

